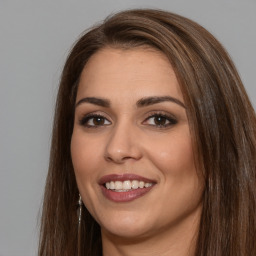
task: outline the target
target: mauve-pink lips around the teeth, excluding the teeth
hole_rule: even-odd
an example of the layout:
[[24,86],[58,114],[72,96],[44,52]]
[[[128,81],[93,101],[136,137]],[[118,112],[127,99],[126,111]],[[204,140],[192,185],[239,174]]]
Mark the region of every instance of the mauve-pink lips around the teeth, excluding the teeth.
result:
[[[153,185],[151,187],[147,187],[147,188],[138,188],[138,189],[134,189],[134,190],[130,190],[127,192],[115,192],[113,190],[107,189],[104,184],[106,182],[110,182],[110,181],[125,181],[125,180],[140,180],[140,181],[144,181],[145,183],[153,183]],[[140,198],[142,196],[144,196],[145,194],[147,194],[156,184],[156,181],[139,176],[139,175],[135,175],[135,174],[130,174],[130,173],[126,173],[126,174],[110,174],[110,175],[106,175],[103,176],[100,180],[99,180],[99,185],[101,187],[101,191],[103,193],[103,195],[109,199],[110,201],[113,202],[130,202],[133,201],[137,198]]]

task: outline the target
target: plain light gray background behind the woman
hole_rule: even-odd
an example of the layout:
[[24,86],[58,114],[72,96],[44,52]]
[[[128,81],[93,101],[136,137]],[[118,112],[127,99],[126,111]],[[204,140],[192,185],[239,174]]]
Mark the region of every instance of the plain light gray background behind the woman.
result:
[[255,106],[255,0],[0,0],[0,256],[36,255],[60,72],[78,35],[125,8],[162,8],[210,30]]

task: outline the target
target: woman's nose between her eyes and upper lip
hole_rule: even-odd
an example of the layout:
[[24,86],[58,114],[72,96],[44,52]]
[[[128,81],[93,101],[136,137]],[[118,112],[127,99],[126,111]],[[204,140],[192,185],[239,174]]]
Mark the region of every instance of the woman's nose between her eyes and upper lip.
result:
[[118,125],[109,134],[105,148],[106,161],[116,164],[127,160],[139,160],[142,157],[139,135],[136,129],[128,125]]

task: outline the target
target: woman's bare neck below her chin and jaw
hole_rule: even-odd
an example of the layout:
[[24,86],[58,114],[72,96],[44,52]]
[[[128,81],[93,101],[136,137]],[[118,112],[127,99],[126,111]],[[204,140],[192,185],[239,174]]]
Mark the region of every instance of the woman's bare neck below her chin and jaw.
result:
[[102,229],[103,256],[194,256],[200,222],[198,214],[172,227],[132,238]]

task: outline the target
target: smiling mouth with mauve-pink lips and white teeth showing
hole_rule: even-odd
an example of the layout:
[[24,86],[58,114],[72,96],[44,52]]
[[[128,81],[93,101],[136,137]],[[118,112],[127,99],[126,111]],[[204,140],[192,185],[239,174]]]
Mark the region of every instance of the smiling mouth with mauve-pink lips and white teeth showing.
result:
[[101,178],[100,185],[103,195],[114,202],[129,202],[149,192],[155,181],[134,175],[107,175]]

